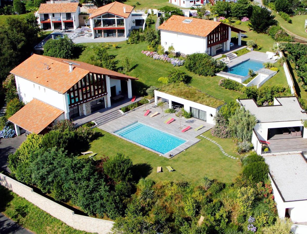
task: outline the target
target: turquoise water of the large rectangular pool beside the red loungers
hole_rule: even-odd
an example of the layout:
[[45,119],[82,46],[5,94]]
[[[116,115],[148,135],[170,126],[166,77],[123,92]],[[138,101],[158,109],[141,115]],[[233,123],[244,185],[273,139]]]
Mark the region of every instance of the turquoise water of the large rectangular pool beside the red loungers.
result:
[[186,142],[184,139],[139,122],[128,125],[114,133],[160,152],[161,154],[166,154]]

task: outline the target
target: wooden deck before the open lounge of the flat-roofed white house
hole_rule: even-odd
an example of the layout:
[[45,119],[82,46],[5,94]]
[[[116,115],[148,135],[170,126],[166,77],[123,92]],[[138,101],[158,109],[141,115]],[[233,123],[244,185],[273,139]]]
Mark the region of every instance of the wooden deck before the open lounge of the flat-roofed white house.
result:
[[269,140],[270,151],[274,152],[295,152],[307,150],[307,138],[288,138]]

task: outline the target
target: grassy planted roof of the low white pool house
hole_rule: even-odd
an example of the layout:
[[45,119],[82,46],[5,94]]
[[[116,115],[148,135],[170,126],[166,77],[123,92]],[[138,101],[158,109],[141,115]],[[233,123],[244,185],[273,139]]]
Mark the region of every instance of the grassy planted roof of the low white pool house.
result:
[[214,108],[224,104],[223,101],[209,96],[208,94],[197,90],[195,87],[188,86],[184,83],[171,83],[163,86],[159,91]]

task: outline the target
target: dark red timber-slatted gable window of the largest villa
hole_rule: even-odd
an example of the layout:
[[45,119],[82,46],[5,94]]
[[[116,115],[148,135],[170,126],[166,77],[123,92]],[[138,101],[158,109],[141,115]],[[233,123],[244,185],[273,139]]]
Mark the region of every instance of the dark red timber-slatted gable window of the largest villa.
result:
[[103,75],[89,73],[68,90],[68,104],[75,106],[88,99],[106,94],[106,81]]

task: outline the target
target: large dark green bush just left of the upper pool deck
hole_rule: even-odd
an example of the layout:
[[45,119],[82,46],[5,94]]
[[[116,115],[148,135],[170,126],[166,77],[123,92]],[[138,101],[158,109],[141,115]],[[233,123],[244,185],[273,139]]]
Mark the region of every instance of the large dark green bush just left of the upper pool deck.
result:
[[216,72],[222,71],[227,65],[206,53],[194,53],[187,56],[185,67],[188,71],[192,71],[198,75],[214,76]]

